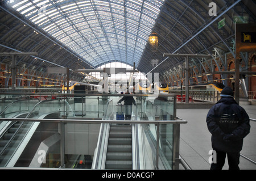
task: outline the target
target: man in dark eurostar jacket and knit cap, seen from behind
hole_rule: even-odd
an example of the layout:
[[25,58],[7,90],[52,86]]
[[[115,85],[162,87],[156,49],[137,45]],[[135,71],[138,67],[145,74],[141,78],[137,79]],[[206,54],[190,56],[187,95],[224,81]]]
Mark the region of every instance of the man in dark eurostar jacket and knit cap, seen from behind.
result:
[[222,169],[226,154],[229,169],[239,169],[243,138],[250,132],[250,118],[234,100],[230,87],[224,87],[220,96],[221,99],[210,108],[207,115],[207,127],[212,133],[212,148],[217,157],[210,169]]

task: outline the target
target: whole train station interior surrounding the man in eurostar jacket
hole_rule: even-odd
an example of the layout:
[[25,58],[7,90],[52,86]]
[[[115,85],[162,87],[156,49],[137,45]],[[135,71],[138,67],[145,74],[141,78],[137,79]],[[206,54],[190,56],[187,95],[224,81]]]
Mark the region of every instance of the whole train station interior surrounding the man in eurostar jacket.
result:
[[224,87],[250,118],[239,167],[256,170],[255,9],[0,1],[0,170],[209,170]]

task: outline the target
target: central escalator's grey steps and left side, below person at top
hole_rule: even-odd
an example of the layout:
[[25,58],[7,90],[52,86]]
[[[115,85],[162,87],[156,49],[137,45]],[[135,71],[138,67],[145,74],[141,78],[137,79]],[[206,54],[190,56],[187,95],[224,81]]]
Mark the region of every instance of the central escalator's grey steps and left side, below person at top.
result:
[[[114,120],[116,105],[110,100],[102,120]],[[133,107],[132,116],[136,113]],[[133,126],[131,124],[102,123],[94,152],[92,169],[133,169]]]

